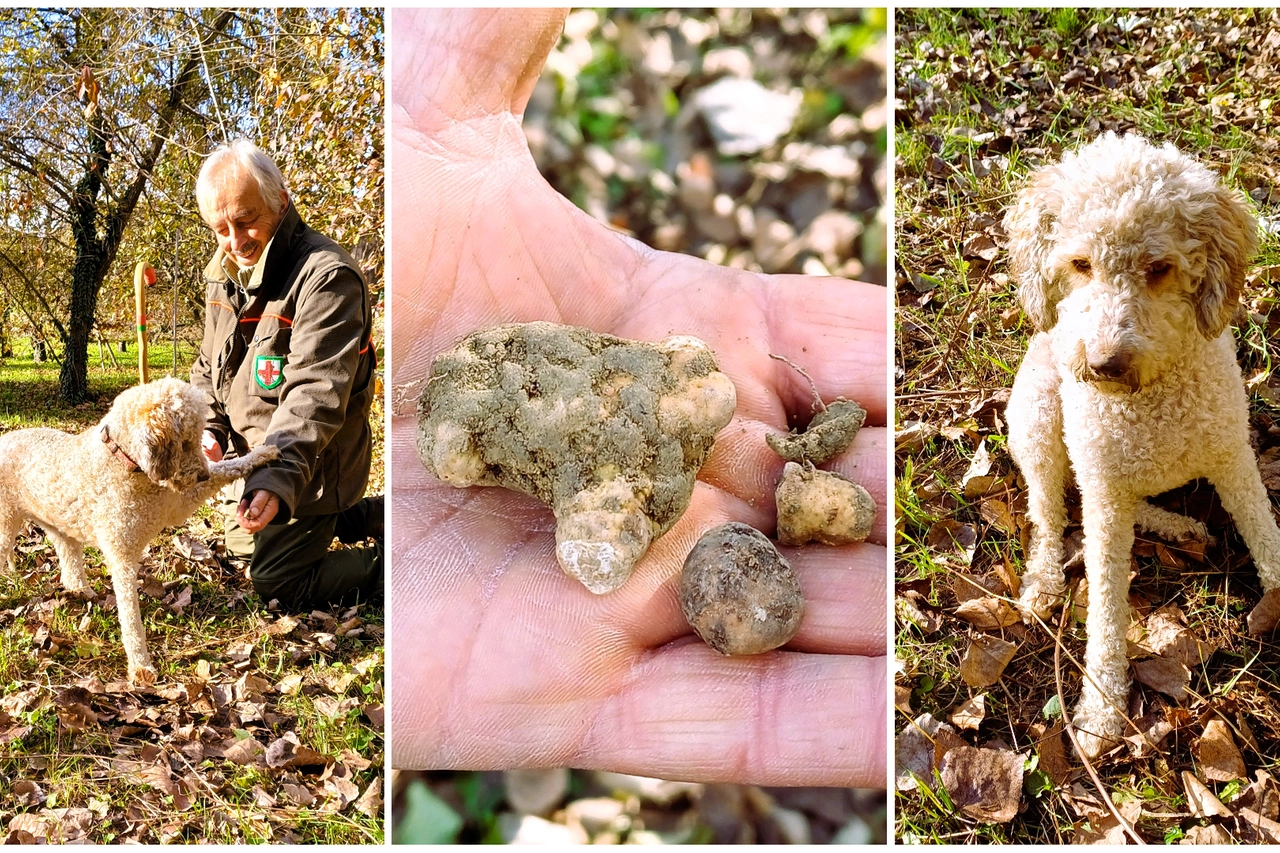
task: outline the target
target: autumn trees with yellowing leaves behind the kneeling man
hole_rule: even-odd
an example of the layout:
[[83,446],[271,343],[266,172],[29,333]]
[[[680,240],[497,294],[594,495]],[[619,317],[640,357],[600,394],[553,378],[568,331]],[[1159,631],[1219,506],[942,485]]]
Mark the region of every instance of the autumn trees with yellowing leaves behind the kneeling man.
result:
[[137,260],[198,339],[193,187],[224,141],[271,154],[380,288],[383,44],[376,9],[0,10],[0,323],[50,345],[64,400],[95,325],[132,334]]

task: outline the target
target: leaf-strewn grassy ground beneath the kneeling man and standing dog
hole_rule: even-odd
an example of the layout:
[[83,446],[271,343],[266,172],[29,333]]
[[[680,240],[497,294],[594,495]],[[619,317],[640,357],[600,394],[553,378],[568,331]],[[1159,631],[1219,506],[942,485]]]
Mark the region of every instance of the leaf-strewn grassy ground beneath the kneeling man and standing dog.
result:
[[[93,382],[113,392],[18,423],[84,429],[128,378]],[[380,483],[380,407],[374,429]],[[381,841],[381,605],[270,611],[243,564],[220,556],[220,526],[205,508],[147,549],[140,599],[160,672],[147,689],[124,680],[99,555],[88,552],[96,596],[72,596],[49,542],[23,530],[18,569],[0,579],[6,841]]]

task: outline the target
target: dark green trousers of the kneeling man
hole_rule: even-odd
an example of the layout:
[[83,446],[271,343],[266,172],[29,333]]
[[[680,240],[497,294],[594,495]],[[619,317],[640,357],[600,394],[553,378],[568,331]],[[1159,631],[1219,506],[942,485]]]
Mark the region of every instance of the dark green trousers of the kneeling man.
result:
[[365,539],[369,502],[360,501],[333,515],[289,519],[248,534],[236,524],[236,503],[223,503],[227,553],[250,561],[250,580],[262,603],[273,598],[288,610],[316,610],[380,598],[383,543],[330,551],[334,537]]

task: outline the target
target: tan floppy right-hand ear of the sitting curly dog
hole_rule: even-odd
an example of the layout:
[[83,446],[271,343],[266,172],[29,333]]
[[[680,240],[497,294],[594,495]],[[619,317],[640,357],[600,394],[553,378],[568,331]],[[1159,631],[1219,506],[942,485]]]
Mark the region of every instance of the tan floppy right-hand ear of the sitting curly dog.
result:
[[1249,259],[1258,250],[1258,224],[1240,193],[1216,186],[1211,199],[1190,228],[1204,241],[1206,252],[1204,278],[1196,289],[1196,324],[1212,341],[1240,302]]

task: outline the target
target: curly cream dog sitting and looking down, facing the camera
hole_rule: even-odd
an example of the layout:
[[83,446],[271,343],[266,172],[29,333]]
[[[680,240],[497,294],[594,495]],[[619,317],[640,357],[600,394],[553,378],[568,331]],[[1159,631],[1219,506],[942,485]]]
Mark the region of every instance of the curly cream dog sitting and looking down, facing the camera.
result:
[[1062,602],[1070,464],[1089,587],[1074,724],[1093,757],[1124,734],[1134,525],[1172,539],[1206,533],[1147,497],[1208,479],[1263,589],[1280,585],[1280,529],[1228,328],[1257,227],[1239,193],[1171,145],[1107,133],[1032,175],[1005,231],[1037,329],[1007,407],[1032,521],[1020,606],[1030,620]]

